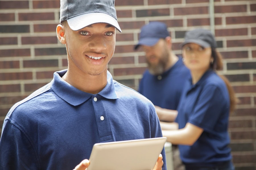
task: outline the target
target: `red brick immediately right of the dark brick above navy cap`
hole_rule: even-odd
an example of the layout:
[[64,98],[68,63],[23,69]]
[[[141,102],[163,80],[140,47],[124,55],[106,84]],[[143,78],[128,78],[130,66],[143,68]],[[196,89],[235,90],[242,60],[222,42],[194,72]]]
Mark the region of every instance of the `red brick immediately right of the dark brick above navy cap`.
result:
[[208,7],[174,8],[174,15],[208,14]]

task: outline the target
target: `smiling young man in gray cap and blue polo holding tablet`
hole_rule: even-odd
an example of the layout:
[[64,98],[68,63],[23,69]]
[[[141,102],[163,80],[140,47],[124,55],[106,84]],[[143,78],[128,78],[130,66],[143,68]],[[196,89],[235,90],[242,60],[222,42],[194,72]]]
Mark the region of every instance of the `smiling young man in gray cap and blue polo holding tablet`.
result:
[[10,109],[0,169],[86,169],[95,143],[162,137],[154,105],[107,71],[121,32],[114,0],[61,0],[60,22],[68,69]]

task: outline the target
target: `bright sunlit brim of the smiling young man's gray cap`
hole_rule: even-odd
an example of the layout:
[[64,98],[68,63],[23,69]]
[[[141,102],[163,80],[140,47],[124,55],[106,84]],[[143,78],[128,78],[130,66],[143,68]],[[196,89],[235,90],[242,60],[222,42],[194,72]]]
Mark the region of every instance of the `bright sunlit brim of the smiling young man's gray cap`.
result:
[[112,16],[102,12],[90,12],[78,15],[67,19],[67,22],[69,27],[74,31],[82,29],[91,24],[107,23],[115,27],[119,32],[122,32],[117,20]]

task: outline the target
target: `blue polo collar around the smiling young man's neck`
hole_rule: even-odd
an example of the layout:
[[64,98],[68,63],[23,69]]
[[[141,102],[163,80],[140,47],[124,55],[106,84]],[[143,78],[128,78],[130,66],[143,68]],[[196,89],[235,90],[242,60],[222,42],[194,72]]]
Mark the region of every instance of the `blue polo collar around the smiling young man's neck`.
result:
[[[61,78],[66,72],[67,69],[57,71],[53,74],[53,80],[51,82],[51,89],[53,92],[73,106],[78,106],[90,99],[93,94],[83,92]],[[98,95],[107,99],[117,99],[118,96],[115,92],[113,78],[109,71],[107,72],[107,81],[107,85],[98,93]]]

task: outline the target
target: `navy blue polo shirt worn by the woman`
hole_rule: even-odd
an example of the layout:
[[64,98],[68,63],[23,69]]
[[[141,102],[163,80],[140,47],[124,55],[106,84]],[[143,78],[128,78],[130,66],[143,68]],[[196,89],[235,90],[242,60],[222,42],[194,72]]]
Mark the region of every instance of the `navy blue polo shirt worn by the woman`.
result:
[[203,128],[192,145],[179,145],[181,160],[186,165],[211,166],[232,159],[228,135],[230,99],[226,84],[212,70],[192,84],[185,83],[176,122],[179,129],[189,122]]

